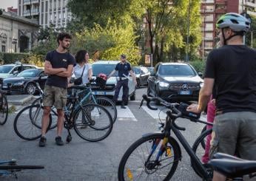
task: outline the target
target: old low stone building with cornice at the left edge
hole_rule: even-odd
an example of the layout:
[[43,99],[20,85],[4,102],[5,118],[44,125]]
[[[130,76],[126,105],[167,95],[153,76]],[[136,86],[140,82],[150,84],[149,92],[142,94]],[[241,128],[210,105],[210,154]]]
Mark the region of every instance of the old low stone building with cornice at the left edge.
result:
[[37,44],[38,21],[3,12],[0,16],[0,52],[25,52]]

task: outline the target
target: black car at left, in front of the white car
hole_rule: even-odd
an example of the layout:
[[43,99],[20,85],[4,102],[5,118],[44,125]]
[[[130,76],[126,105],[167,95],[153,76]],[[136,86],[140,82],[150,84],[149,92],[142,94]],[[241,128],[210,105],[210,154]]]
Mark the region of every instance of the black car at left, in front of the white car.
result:
[[26,69],[16,77],[2,79],[1,89],[6,90],[9,94],[34,95],[38,91],[36,82],[39,83],[41,89],[44,89],[46,80],[47,75],[43,69]]

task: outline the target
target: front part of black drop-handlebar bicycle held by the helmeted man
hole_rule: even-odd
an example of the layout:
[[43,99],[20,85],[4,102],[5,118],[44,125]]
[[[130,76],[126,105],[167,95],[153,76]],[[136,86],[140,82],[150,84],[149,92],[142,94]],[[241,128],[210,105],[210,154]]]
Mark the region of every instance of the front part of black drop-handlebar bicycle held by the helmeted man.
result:
[[175,120],[178,117],[183,117],[195,123],[208,123],[198,120],[200,115],[186,112],[186,108],[179,103],[168,103],[161,98],[148,98],[143,95],[141,106],[144,100],[149,109],[157,109],[150,106],[149,103],[152,100],[158,100],[169,109],[166,112],[166,122],[161,123],[163,129],[161,132],[144,134],[129,146],[118,166],[118,180],[170,180],[178,166],[178,161],[181,161],[181,147],[178,141],[172,137],[171,131],[189,154],[203,180],[212,180],[212,169],[206,169],[206,166],[201,163],[195,151],[181,134],[181,131],[186,129],[178,126]]

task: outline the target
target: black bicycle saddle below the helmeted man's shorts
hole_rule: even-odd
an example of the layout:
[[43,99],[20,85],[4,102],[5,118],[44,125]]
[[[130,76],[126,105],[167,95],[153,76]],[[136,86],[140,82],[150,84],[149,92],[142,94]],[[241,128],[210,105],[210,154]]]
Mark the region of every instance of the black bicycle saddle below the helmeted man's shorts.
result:
[[256,161],[242,160],[237,158],[212,159],[208,163],[215,171],[226,177],[242,177],[256,172]]

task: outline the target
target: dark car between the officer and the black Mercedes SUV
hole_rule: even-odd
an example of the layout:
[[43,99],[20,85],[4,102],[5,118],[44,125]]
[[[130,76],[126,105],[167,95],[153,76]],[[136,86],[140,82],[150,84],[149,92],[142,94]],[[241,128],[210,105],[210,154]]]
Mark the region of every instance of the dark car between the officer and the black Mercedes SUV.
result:
[[144,66],[134,66],[133,72],[136,76],[137,88],[140,88],[142,85],[147,85],[147,79],[149,78],[150,72]]

